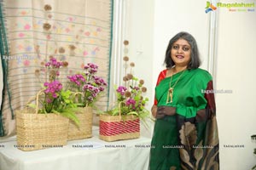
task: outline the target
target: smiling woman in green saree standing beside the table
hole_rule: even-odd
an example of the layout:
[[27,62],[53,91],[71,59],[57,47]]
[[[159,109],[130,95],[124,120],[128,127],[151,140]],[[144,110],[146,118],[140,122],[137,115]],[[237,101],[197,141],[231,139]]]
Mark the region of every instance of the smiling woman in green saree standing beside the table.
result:
[[179,32],[166,49],[155,88],[150,170],[216,170],[218,127],[212,77],[200,68],[195,38]]

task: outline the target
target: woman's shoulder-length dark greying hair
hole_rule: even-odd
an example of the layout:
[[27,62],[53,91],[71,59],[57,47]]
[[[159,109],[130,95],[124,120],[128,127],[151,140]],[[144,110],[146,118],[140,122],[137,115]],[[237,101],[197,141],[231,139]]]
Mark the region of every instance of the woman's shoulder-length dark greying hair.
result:
[[175,65],[175,63],[171,58],[172,44],[174,42],[177,42],[177,40],[180,38],[189,42],[189,45],[191,47],[191,60],[187,68],[188,69],[198,68],[201,65],[201,60],[199,58],[199,51],[197,48],[195,38],[191,36],[188,32],[184,32],[184,31],[177,33],[177,35],[172,37],[172,39],[170,40],[168,47],[166,49],[166,59],[165,59],[164,65],[166,65],[166,68],[172,68],[172,66]]

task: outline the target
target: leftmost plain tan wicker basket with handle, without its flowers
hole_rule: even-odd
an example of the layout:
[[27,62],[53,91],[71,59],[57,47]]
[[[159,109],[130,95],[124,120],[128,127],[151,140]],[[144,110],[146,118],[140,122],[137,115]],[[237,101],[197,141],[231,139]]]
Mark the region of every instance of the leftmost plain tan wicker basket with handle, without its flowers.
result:
[[16,147],[20,150],[41,150],[67,144],[68,119],[54,113],[38,114],[39,95],[35,110],[26,108],[15,111]]

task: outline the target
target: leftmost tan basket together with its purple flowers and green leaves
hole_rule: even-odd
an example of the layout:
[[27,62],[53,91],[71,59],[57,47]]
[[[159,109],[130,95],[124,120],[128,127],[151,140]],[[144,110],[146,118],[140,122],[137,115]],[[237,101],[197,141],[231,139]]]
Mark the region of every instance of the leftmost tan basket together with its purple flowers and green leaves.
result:
[[[46,71],[43,89],[35,98],[28,101],[25,110],[16,111],[17,143],[20,150],[40,150],[53,145],[67,144],[69,119],[79,123],[74,111],[70,90],[65,90],[59,81],[61,67],[67,62],[50,57],[45,64]],[[36,76],[40,72],[36,70]],[[35,104],[32,101],[35,100]]]

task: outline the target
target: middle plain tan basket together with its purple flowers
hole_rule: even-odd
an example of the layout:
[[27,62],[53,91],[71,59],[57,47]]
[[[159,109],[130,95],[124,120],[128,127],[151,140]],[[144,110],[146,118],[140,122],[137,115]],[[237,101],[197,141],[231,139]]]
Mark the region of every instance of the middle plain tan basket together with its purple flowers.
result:
[[84,72],[67,77],[69,88],[75,92],[76,103],[79,111],[80,125],[69,123],[68,139],[84,139],[92,137],[92,107],[95,106],[97,98],[102,94],[107,86],[102,77],[97,77],[98,66],[88,63],[84,66]]

